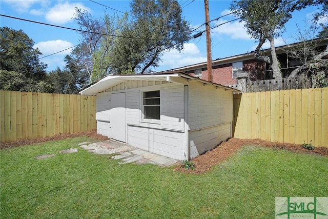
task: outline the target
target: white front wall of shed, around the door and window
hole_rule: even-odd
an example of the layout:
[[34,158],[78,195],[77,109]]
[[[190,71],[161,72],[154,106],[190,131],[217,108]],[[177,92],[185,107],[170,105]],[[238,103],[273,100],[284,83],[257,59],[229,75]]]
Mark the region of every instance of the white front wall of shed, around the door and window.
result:
[[[97,132],[111,137],[110,95],[126,92],[127,143],[140,149],[183,160],[185,155],[181,146],[185,134],[185,88],[175,83],[145,85],[149,84],[152,86],[98,93]],[[160,90],[160,120],[143,120],[142,92],[153,90]]]

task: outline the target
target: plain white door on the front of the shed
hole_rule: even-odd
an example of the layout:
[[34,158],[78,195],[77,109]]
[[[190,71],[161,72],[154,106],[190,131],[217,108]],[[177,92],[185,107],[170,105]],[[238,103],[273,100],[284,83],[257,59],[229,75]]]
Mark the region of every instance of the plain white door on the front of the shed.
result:
[[126,141],[126,102],[125,93],[111,94],[110,102],[110,129],[111,138],[120,141]]

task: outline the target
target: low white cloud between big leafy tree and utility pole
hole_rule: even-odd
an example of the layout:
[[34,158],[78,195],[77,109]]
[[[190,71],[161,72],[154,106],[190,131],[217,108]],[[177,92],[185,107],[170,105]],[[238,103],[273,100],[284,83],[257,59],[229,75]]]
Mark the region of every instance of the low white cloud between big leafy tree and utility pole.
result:
[[160,64],[160,66],[165,66],[168,68],[163,70],[169,70],[169,68],[179,68],[196,63],[202,63],[206,60],[206,56],[201,55],[195,44],[186,43],[184,44],[184,48],[181,53],[177,50],[171,50],[164,53],[162,56],[162,64]]

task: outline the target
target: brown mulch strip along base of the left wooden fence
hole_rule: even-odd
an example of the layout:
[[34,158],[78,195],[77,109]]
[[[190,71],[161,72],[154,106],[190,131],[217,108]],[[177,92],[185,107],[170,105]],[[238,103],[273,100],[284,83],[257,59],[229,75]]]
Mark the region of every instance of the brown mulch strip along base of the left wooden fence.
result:
[[43,142],[49,142],[49,141],[57,141],[57,140],[63,140],[66,138],[71,138],[71,137],[79,137],[79,136],[89,136],[93,138],[94,140],[99,140],[99,141],[105,141],[108,140],[109,138],[97,134],[96,131],[85,131],[85,132],[79,132],[79,133],[74,133],[74,134],[57,134],[51,137],[42,137],[42,138],[34,138],[34,139],[22,139],[18,140],[16,142],[2,142],[0,144],[0,148],[9,148],[9,147],[18,147],[18,146],[24,146],[24,145],[32,145],[32,144],[37,144],[37,143],[43,143]]

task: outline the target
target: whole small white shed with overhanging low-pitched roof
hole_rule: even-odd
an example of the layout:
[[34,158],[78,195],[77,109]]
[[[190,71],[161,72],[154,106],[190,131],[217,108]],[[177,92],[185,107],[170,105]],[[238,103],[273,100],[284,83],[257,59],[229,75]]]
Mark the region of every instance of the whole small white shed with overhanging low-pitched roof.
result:
[[185,73],[108,75],[97,95],[97,133],[177,160],[232,137],[233,91]]

